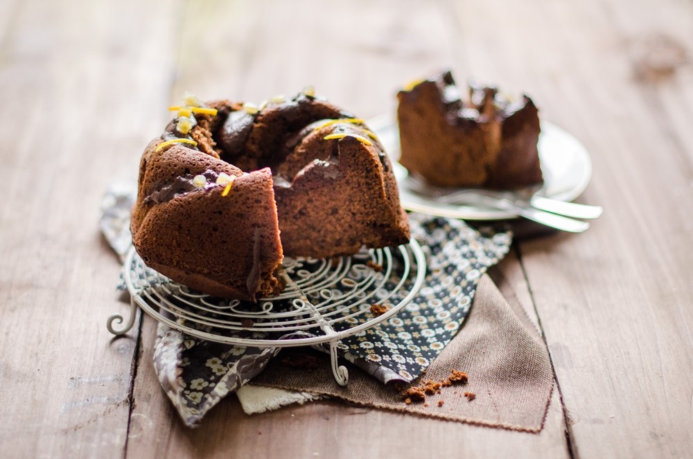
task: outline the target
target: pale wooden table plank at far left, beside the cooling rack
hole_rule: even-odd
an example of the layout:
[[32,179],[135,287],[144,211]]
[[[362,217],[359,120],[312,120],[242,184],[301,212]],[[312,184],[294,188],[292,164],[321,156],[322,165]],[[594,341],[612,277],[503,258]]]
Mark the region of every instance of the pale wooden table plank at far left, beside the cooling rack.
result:
[[175,13],[162,2],[2,9],[10,3],[0,34],[0,456],[119,457],[136,341],[105,328],[125,308],[98,206],[109,182],[136,173],[150,123],[164,122],[168,74],[141,69],[170,66]]

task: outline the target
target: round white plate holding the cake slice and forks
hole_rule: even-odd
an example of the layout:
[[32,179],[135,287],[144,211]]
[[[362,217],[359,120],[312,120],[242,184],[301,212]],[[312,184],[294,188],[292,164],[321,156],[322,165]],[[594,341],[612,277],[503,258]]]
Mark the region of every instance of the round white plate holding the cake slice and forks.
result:
[[[413,179],[399,159],[399,132],[397,124],[389,114],[371,119],[367,123],[385,147],[393,162],[400,201],[407,210],[441,217],[462,218],[464,220],[506,220],[517,218],[513,212],[493,209],[481,205],[457,205],[437,202],[435,198],[416,193]],[[572,201],[585,191],[592,177],[592,161],[586,148],[569,132],[558,126],[541,121],[541,134],[538,142],[539,162],[544,176],[544,184],[537,191],[538,196],[561,201]],[[435,189],[435,187],[430,187]],[[450,189],[439,189],[440,194],[450,193]],[[519,196],[527,196],[527,190],[518,191]]]

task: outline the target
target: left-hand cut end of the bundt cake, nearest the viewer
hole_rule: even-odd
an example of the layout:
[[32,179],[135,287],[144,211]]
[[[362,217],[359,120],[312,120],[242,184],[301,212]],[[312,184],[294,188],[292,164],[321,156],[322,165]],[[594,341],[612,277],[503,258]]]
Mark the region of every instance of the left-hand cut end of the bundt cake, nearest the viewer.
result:
[[175,145],[141,159],[132,242],[151,268],[210,295],[256,300],[281,291],[283,254],[272,173],[252,173]]

